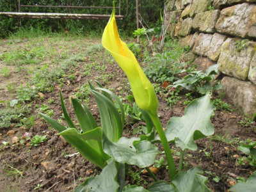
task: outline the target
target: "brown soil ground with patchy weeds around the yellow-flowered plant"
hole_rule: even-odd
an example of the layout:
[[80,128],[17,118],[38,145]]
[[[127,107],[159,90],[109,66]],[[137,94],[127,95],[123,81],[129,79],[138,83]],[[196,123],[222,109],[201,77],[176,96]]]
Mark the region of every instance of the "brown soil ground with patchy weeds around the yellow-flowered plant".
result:
[[[40,45],[40,42],[44,43]],[[97,104],[87,82],[95,85],[94,81],[99,81],[104,88],[122,97],[123,102],[128,102],[125,100],[131,94],[128,81],[96,38],[53,35],[0,40],[0,45],[1,190],[73,191],[78,184],[101,170],[57,136],[38,112],[66,125],[60,105],[61,91],[73,120],[75,115],[69,97],[76,95],[100,124]],[[179,58],[176,61],[181,62]],[[147,60],[143,65],[149,65]],[[164,90],[162,83],[156,84]],[[170,117],[184,115],[184,102],[188,99],[186,93],[181,90],[180,99],[170,106],[166,102],[166,94],[159,92],[158,113],[163,127]],[[219,99],[220,93],[215,92],[212,99]],[[214,135],[196,141],[198,148],[188,150],[184,158],[184,170],[202,167],[204,175],[209,178],[206,186],[212,191],[227,191],[236,182],[243,182],[252,175],[256,166],[256,162],[253,163],[248,155],[237,149],[243,143],[255,141],[255,122],[247,124],[245,116],[232,100],[223,97],[222,102],[225,108],[216,109],[211,118]],[[141,125],[145,123],[129,119],[125,123],[124,135],[129,138],[140,136]],[[33,138],[36,135],[38,140]],[[173,159],[179,164],[179,156],[176,156],[179,149],[170,145]],[[163,150],[160,144],[157,146]],[[162,168],[161,163],[156,163],[156,166],[159,167],[157,179],[170,181],[168,170]],[[127,170],[125,184],[140,184],[147,188],[154,182],[136,166],[128,166]]]

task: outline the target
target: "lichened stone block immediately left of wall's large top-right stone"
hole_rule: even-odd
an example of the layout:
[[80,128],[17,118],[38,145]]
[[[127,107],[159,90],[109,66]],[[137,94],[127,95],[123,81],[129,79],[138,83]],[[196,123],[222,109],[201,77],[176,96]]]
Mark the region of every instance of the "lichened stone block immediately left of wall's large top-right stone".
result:
[[220,10],[197,13],[192,21],[195,31],[214,33],[215,24],[220,17]]

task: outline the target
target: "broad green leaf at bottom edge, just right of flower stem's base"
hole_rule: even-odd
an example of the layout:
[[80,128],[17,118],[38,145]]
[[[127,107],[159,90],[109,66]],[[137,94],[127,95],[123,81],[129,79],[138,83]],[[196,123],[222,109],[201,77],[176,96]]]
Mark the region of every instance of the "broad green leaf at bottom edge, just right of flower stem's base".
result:
[[202,168],[196,166],[188,172],[179,172],[172,183],[179,192],[209,192],[210,189],[205,186],[207,177],[204,177]]

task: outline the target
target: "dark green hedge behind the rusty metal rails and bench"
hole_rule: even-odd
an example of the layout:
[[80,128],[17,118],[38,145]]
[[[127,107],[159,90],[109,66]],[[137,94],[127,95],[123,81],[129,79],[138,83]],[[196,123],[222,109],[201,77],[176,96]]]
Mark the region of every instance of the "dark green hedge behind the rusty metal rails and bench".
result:
[[[17,12],[18,1],[0,0],[0,12]],[[139,1],[140,2],[140,1]],[[15,4],[16,3],[16,4]],[[21,0],[21,4],[38,4],[38,5],[69,5],[68,0]],[[119,4],[118,0],[115,0],[116,5]],[[112,6],[113,1],[81,1],[72,0],[72,6]],[[127,6],[128,5],[128,6]],[[141,1],[140,12],[142,13],[143,20],[147,22],[149,27],[156,26],[160,22],[160,12],[163,10],[164,0],[156,1],[147,0]],[[22,7],[21,12],[49,12],[49,13],[69,13],[68,8],[26,8]],[[71,13],[90,13],[90,14],[110,14],[111,9],[71,9]],[[118,10],[116,10],[118,13]],[[132,31],[136,29],[136,1],[135,0],[122,0],[121,1],[121,15],[125,15],[125,19],[118,21],[118,28],[125,32],[127,35],[131,35]],[[107,20],[60,20],[60,19],[22,19],[22,28],[36,28],[38,31],[47,32],[61,32],[70,31],[71,33],[77,33],[82,35],[84,33],[101,32],[106,26]],[[10,17],[0,16],[0,37],[4,38],[19,30],[19,24],[17,19]]]

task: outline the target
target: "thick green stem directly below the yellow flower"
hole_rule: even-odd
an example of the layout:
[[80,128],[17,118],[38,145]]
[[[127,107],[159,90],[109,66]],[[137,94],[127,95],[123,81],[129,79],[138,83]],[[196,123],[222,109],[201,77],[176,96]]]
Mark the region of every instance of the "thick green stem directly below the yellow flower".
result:
[[173,157],[172,157],[171,148],[169,146],[169,143],[167,141],[166,135],[164,133],[162,124],[161,124],[158,116],[150,114],[150,117],[156,127],[156,131],[157,131],[159,138],[161,140],[161,143],[163,145],[164,153],[165,153],[167,164],[169,167],[170,179],[172,180],[173,177],[176,175],[176,170],[175,170],[175,164],[174,164]]

